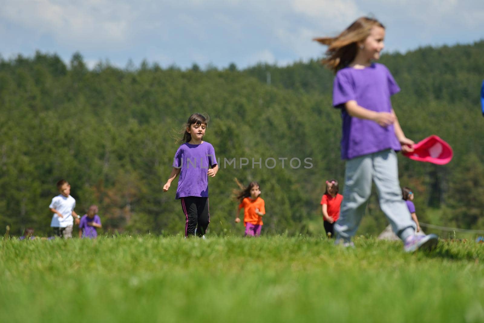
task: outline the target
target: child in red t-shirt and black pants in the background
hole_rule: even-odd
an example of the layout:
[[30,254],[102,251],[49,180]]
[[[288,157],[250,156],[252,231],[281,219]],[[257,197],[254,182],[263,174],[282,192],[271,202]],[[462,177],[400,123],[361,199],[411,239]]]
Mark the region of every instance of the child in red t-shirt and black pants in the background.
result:
[[323,212],[323,225],[328,238],[334,235],[334,223],[339,219],[339,211],[343,195],[338,194],[339,184],[332,179],[326,181],[326,191],[321,198],[321,211]]

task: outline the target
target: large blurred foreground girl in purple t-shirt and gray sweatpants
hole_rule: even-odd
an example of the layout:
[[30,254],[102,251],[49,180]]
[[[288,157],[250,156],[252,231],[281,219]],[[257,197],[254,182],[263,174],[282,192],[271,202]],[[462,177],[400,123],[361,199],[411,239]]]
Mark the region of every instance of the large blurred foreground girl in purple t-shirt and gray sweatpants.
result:
[[404,250],[431,249],[437,235],[416,235],[415,223],[402,200],[395,151],[413,151],[393,111],[391,96],[400,91],[380,58],[385,27],[376,19],[361,17],[336,37],[316,38],[328,45],[323,64],[336,76],[333,106],[341,110],[343,131],[341,157],[346,160],[345,199],[334,225],[335,243],[353,246],[351,237],[362,219],[372,181],[379,204],[404,242]]

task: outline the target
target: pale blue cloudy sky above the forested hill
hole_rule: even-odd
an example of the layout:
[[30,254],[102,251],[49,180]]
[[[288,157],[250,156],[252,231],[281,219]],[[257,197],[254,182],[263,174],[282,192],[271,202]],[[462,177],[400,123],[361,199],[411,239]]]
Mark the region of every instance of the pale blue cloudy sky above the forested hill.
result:
[[484,39],[483,0],[0,0],[0,55],[79,51],[125,67],[244,68],[321,57],[311,41],[362,15],[386,27],[385,51]]

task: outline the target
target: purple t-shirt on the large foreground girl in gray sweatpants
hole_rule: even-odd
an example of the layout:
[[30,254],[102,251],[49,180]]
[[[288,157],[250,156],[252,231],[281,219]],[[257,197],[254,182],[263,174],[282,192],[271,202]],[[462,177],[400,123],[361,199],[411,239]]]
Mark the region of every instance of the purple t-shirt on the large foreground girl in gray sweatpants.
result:
[[391,112],[390,97],[400,88],[385,65],[373,63],[358,70],[346,67],[336,73],[333,84],[333,106],[341,108],[343,134],[341,158],[352,159],[392,148],[400,150],[393,125],[382,127],[375,121],[350,117],[344,104],[355,100],[365,109]]

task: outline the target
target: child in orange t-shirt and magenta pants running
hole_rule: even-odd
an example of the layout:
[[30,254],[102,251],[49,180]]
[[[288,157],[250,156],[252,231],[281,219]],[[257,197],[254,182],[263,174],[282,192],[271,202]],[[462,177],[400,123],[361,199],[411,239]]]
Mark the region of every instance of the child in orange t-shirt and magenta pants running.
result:
[[243,225],[245,226],[245,236],[259,236],[262,229],[262,216],[266,214],[264,200],[259,197],[260,189],[257,182],[250,184],[237,194],[239,208],[235,216],[235,222],[239,223],[239,213],[243,208]]

